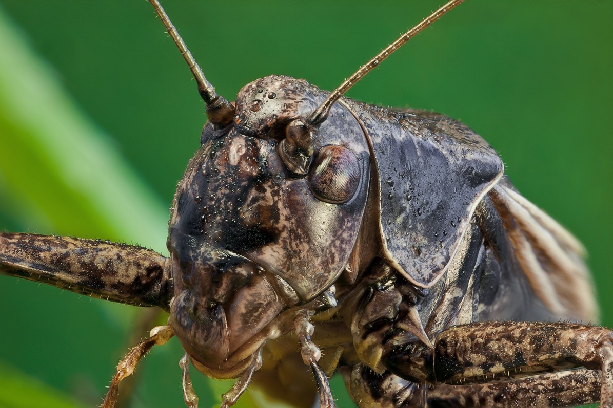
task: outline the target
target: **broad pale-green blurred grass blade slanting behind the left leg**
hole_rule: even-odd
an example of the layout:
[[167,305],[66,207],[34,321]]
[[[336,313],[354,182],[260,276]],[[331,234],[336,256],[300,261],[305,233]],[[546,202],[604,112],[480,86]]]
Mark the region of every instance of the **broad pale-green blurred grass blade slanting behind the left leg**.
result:
[[23,225],[39,232],[129,237],[164,250],[167,209],[83,116],[2,10],[0,50],[2,204],[18,209]]

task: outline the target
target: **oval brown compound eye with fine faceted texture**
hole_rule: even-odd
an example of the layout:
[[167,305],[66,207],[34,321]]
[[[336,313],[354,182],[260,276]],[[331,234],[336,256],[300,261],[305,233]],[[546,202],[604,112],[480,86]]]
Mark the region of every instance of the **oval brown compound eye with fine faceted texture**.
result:
[[360,184],[360,165],[356,155],[342,146],[324,146],[311,165],[308,176],[313,195],[321,201],[343,204]]

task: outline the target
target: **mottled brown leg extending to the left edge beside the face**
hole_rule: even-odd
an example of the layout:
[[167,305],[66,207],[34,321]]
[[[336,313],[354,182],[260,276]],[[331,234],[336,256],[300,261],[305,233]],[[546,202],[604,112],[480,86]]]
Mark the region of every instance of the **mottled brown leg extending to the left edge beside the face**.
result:
[[155,251],[124,243],[0,233],[0,273],[169,311],[173,289],[166,261]]

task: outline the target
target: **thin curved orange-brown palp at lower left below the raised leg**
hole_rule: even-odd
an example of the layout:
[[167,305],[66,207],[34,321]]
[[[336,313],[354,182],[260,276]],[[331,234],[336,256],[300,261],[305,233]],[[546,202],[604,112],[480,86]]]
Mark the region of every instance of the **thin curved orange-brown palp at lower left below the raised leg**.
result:
[[166,343],[174,335],[175,333],[170,326],[158,326],[151,329],[149,338],[133,347],[117,365],[117,372],[111,380],[109,391],[107,391],[107,395],[104,397],[101,408],[115,407],[121,380],[134,372],[136,364],[151,350],[151,347]]

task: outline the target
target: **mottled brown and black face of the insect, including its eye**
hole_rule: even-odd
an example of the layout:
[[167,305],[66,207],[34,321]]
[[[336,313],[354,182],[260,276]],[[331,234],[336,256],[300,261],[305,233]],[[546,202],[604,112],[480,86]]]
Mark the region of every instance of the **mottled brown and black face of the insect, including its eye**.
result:
[[293,174],[280,155],[291,119],[324,96],[283,76],[246,85],[234,124],[205,127],[177,189],[171,321],[215,377],[234,376],[268,333],[281,333],[287,306],[310,302],[337,280],[356,242],[370,155],[351,113],[340,105],[321,127],[310,174]]

